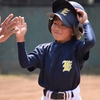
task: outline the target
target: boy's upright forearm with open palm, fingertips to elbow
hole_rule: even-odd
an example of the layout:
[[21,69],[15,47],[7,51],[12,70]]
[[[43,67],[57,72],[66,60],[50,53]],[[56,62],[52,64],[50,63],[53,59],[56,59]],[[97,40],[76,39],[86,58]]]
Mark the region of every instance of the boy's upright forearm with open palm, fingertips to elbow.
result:
[[21,16],[18,17],[17,22],[18,22],[18,26],[16,27],[16,30],[18,31],[15,33],[15,35],[16,35],[17,46],[18,46],[19,63],[21,67],[29,68],[31,64],[25,47],[25,34],[27,31],[27,24],[24,21],[24,17]]

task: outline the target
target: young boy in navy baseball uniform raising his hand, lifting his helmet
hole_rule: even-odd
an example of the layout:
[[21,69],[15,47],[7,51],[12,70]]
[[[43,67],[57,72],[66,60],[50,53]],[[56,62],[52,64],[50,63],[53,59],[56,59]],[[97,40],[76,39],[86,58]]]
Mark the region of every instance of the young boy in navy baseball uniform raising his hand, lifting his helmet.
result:
[[[82,100],[80,70],[96,42],[87,13],[77,2],[55,0],[47,15],[54,41],[38,45],[30,53],[25,47],[27,25],[19,17],[16,40],[20,65],[31,72],[40,69],[41,100]],[[83,34],[84,41],[80,40]]]

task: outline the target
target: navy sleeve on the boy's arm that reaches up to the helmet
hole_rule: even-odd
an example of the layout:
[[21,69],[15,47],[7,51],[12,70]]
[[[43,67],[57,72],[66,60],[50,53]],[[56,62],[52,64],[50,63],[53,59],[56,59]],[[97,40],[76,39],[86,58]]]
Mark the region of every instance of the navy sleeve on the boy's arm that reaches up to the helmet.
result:
[[90,49],[95,45],[96,38],[90,23],[84,24],[84,41],[80,43],[77,48],[78,53],[82,56],[83,60],[89,57]]

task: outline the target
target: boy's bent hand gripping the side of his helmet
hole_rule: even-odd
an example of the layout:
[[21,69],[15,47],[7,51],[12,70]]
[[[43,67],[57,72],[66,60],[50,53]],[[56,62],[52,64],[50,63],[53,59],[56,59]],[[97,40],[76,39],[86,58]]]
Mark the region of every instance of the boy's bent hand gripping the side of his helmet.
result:
[[85,11],[76,8],[76,12],[77,12],[77,19],[81,24],[88,22],[88,16],[87,16],[87,13]]

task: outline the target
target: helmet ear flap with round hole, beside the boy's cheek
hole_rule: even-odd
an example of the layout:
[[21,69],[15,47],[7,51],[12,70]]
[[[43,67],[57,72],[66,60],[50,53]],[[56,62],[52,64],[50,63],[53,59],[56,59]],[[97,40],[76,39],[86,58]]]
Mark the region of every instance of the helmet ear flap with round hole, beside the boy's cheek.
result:
[[79,40],[84,35],[84,28],[81,23],[74,24],[73,26],[75,37]]

